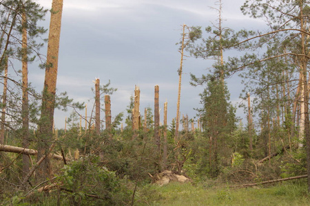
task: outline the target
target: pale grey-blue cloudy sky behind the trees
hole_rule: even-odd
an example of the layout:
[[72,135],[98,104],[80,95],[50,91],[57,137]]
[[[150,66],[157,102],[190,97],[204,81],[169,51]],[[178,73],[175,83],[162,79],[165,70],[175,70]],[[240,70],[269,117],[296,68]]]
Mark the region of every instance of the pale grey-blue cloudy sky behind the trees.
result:
[[[257,30],[263,23],[249,19],[240,12],[244,0],[223,0],[225,27],[234,30]],[[50,9],[52,0],[37,0]],[[211,0],[64,0],[59,53],[57,91],[67,91],[70,98],[88,105],[90,116],[94,103],[95,78],[117,91],[111,95],[112,117],[123,112],[130,104],[135,85],[141,89],[141,113],[149,106],[154,111],[154,86],[159,85],[160,107],[168,102],[168,124],[176,117],[178,69],[180,53],[178,43],[183,23],[188,26],[207,27],[216,23],[217,7]],[[49,27],[50,14],[41,22]],[[206,37],[206,36],[205,36]],[[41,50],[46,54],[46,47]],[[199,93],[204,87],[189,85],[190,73],[201,76],[209,72],[212,60],[186,57],[183,62],[180,113],[189,118],[200,108]],[[29,66],[29,79],[41,91],[44,71]],[[231,102],[238,106],[243,87],[236,76],[227,80]],[[85,111],[80,111],[82,115]],[[63,128],[70,111],[55,111],[55,126]],[[237,115],[245,117],[242,109]],[[161,110],[163,117],[163,109]],[[101,113],[104,120],[104,113]],[[163,122],[163,119],[161,119]]]

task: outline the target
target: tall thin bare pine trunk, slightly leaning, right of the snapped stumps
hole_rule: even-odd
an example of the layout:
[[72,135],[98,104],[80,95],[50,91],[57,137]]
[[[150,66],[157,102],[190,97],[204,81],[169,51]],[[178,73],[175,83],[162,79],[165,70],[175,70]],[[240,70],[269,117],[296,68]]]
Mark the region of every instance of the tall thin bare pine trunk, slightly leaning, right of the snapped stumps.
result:
[[181,46],[181,59],[180,59],[180,69],[178,70],[178,102],[176,103],[176,134],[174,135],[174,142],[177,144],[178,142],[178,127],[180,124],[180,89],[181,89],[181,82],[182,82],[182,69],[183,69],[183,54],[184,54],[184,47],[185,47],[185,27],[186,25],[183,24],[183,36],[182,36],[182,46]]

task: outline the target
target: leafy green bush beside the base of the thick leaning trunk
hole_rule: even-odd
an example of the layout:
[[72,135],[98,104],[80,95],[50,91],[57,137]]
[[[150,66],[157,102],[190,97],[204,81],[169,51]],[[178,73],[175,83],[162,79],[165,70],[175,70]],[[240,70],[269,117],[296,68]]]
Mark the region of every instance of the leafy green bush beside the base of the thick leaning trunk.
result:
[[132,192],[115,172],[99,166],[99,157],[89,155],[65,165],[59,176],[63,182],[63,196],[76,205],[126,205]]

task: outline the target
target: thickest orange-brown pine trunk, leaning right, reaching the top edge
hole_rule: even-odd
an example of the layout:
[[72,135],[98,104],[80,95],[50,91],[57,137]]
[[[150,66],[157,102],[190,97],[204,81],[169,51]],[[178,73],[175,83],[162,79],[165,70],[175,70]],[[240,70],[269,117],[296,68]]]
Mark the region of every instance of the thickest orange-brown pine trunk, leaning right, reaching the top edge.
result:
[[[41,119],[39,123],[39,147],[38,157],[41,159],[49,152],[54,141],[52,128],[54,123],[54,105],[56,95],[56,80],[59,58],[59,39],[61,34],[61,14],[63,12],[63,0],[53,0],[50,16],[50,33],[48,36],[48,56],[46,60],[45,80],[43,86],[43,100]],[[47,157],[39,165],[39,178],[46,179],[52,176],[50,158]]]

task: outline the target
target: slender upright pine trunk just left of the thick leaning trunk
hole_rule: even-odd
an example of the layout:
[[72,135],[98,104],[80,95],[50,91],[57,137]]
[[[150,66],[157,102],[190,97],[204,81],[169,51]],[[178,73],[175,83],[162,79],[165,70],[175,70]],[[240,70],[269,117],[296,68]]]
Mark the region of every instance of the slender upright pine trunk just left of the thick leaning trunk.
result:
[[[23,55],[23,60],[22,60],[22,90],[23,90],[23,100],[22,100],[22,105],[21,105],[21,115],[23,119],[23,137],[22,137],[22,147],[23,148],[28,148],[29,146],[29,108],[28,108],[28,46],[27,46],[27,17],[25,14],[25,8],[23,8],[23,13],[22,13],[22,18],[21,18],[21,24],[22,24],[22,55]],[[23,178],[25,178],[25,175],[28,174],[29,168],[30,168],[30,161],[28,156],[23,155]]]

